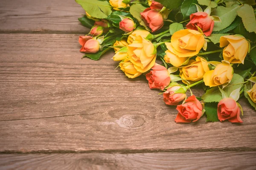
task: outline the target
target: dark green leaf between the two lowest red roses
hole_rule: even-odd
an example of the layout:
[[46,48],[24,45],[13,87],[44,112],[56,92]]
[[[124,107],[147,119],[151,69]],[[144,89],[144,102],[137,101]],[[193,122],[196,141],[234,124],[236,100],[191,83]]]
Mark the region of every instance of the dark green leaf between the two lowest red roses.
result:
[[206,122],[218,122],[218,103],[206,103],[204,110],[207,115]]

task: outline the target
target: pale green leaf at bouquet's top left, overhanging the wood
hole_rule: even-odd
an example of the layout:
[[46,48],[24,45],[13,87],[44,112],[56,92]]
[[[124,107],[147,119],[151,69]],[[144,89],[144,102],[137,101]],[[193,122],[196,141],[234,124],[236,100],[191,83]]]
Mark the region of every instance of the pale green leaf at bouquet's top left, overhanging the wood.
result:
[[108,1],[100,0],[76,0],[84,10],[92,17],[106,18],[112,13],[112,7]]

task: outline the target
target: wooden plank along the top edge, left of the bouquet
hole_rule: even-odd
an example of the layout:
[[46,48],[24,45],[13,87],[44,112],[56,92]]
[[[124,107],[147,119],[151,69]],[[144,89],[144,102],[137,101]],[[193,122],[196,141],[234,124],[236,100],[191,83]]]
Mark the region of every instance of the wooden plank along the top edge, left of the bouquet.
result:
[[75,0],[1,0],[0,32],[87,33]]

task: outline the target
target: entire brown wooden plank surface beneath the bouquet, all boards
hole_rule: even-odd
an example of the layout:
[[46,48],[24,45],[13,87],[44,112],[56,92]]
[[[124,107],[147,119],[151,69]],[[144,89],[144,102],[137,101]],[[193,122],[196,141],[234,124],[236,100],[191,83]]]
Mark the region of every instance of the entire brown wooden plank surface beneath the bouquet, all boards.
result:
[[[0,2],[0,170],[255,170],[256,111],[243,124],[176,124],[113,52],[81,59],[74,0]],[[194,90],[195,95],[203,91]]]

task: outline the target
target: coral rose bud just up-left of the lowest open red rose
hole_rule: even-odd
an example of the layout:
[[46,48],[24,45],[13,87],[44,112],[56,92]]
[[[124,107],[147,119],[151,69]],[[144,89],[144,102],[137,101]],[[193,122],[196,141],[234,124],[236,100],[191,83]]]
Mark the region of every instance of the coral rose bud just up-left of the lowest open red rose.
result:
[[175,94],[175,91],[178,89],[180,89],[180,86],[175,85],[171,88],[168,88],[167,91],[163,93],[163,101],[166,103],[166,105],[176,106],[179,104],[179,102],[183,101],[186,98],[186,94]]

